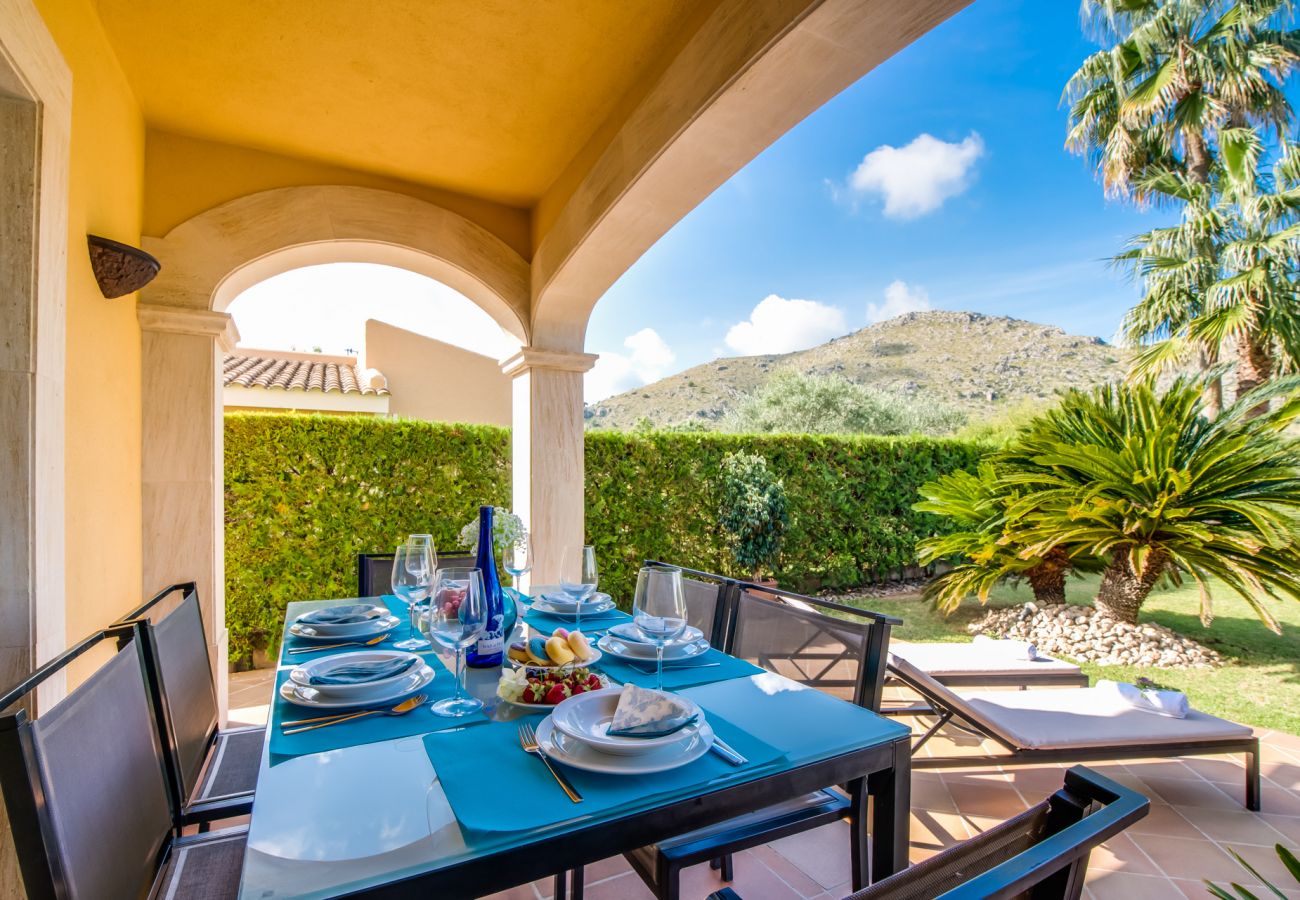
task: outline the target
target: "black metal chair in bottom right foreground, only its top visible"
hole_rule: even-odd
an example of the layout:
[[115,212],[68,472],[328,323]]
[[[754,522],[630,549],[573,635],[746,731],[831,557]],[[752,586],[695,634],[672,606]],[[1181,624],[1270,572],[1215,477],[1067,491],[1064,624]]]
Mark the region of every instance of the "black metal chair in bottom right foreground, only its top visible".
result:
[[[1078,900],[1092,848],[1149,808],[1136,791],[1074,766],[1065,786],[1039,805],[848,900]],[[740,895],[728,887],[708,900],[740,900]]]

